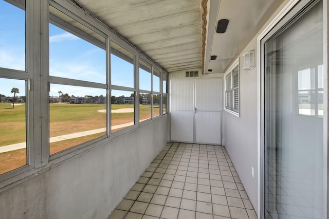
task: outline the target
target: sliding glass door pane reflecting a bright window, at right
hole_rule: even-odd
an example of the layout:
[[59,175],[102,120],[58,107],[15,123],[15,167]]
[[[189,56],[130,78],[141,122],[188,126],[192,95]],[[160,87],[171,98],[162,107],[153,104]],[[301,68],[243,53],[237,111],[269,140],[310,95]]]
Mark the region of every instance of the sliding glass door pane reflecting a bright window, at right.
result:
[[300,9],[262,41],[265,218],[324,215],[322,1]]

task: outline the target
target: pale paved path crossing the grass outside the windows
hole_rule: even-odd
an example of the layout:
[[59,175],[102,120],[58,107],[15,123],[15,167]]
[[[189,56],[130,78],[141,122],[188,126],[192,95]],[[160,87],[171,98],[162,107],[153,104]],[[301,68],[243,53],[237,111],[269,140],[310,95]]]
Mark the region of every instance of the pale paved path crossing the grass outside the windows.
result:
[[[131,126],[131,125],[134,125],[134,122],[124,123],[124,124],[120,124],[120,125],[114,125],[111,127],[111,130],[120,129],[122,127],[127,127],[127,126]],[[85,131],[85,132],[77,132],[77,133],[72,133],[72,134],[67,134],[67,135],[51,137],[49,139],[49,141],[50,141],[50,143],[52,143],[52,142],[63,141],[63,140],[72,139],[72,138],[78,138],[78,137],[82,137],[82,136],[86,136],[86,135],[94,135],[94,134],[101,133],[101,132],[106,132],[106,128],[104,127],[101,129],[94,129],[94,130],[89,130],[89,131]],[[0,147],[0,153],[19,150],[19,149],[23,149],[23,148],[26,148],[26,142],[2,146],[2,147]]]

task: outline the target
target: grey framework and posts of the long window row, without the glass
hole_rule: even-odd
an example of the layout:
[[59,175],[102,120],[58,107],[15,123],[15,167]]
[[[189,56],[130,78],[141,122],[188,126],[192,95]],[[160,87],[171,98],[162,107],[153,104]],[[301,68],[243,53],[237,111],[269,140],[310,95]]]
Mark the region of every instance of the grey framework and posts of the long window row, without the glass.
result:
[[[6,0],[9,3],[20,2],[21,0]],[[22,0],[24,1],[24,0]],[[15,5],[13,4],[13,5]],[[76,79],[60,78],[49,76],[49,6],[53,6],[77,22],[85,25],[89,29],[101,34],[106,40],[106,83],[96,83]],[[153,119],[162,118],[162,109],[160,115],[139,122],[139,98],[135,98],[135,124],[126,127],[118,132],[111,133],[111,113],[106,114],[107,135],[76,145],[53,155],[49,155],[49,83],[64,84],[73,86],[85,86],[92,88],[106,89],[106,109],[109,112],[111,108],[111,89],[127,89],[139,95],[144,90],[139,90],[139,58],[147,62],[151,68],[160,70],[160,91],[155,94],[160,95],[162,100],[162,74],[163,69],[153,60],[150,60],[136,47],[122,39],[120,35],[100,23],[95,17],[87,14],[83,9],[65,0],[43,0],[26,1],[25,8],[26,23],[26,69],[25,71],[6,69],[0,67],[0,77],[9,79],[26,80],[26,135],[27,135],[27,165],[11,170],[0,175],[0,192],[11,188],[14,185],[28,180],[39,173],[47,171],[54,165],[66,162],[74,157],[80,156],[88,151],[99,147],[104,143],[111,142],[112,139],[120,135],[127,134],[132,130],[139,128],[140,124],[151,122]],[[87,36],[86,36],[87,37]],[[115,42],[122,48],[131,52],[134,59],[134,83],[135,87],[127,88],[111,85],[111,42]],[[162,73],[162,74],[161,74]],[[153,72],[151,72],[153,83]],[[153,85],[152,89],[153,89]],[[168,87],[167,75],[167,87]],[[153,90],[147,93],[153,94]],[[168,90],[168,89],[167,89]],[[160,102],[162,108],[162,101]],[[168,94],[167,94],[168,109]],[[168,113],[168,110],[167,110]],[[166,114],[167,114],[166,113]]]

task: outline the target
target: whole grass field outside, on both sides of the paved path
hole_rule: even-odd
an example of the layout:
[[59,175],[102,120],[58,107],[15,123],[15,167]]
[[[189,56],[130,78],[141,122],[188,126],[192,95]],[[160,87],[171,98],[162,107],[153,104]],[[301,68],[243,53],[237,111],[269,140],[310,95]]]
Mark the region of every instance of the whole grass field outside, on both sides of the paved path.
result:
[[[16,105],[21,104],[21,105]],[[26,141],[25,103],[0,103],[0,147]],[[63,104],[49,105],[50,137],[89,131],[106,127],[105,104]],[[133,108],[133,104],[112,104],[112,109]],[[156,107],[156,106],[155,106]],[[157,115],[158,108],[156,109]],[[151,118],[151,105],[140,105],[140,120]],[[134,121],[134,113],[112,113],[112,125]],[[122,128],[121,128],[122,129]],[[113,130],[114,131],[118,131]],[[54,154],[83,142],[105,135],[105,132],[50,143],[50,154]],[[26,165],[26,150],[20,149],[0,153],[0,174]]]

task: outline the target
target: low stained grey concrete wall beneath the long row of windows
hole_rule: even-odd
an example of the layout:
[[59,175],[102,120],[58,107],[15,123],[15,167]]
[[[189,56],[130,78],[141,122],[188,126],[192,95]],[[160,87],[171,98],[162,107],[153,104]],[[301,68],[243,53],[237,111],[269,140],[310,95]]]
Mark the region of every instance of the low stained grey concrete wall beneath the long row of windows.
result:
[[142,124],[0,194],[1,218],[107,218],[167,142],[167,120]]

